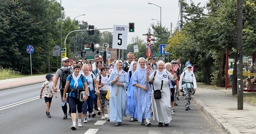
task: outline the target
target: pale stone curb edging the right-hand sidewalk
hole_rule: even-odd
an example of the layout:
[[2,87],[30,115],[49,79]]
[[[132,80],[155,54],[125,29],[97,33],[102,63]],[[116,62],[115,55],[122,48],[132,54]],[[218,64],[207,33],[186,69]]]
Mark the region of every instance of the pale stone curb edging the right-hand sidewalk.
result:
[[208,118],[212,119],[224,132],[228,134],[240,133],[237,129],[232,127],[232,125],[230,125],[222,116],[219,116],[214,110],[212,110],[200,99],[196,99],[196,97],[191,98],[199,107],[199,109],[203,111]]

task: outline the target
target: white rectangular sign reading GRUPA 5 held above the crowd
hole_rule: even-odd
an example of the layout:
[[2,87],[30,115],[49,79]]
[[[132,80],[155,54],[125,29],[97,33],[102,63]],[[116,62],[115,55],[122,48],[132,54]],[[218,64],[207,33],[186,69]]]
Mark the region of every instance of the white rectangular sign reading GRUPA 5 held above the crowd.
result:
[[127,25],[114,25],[112,48],[127,49],[127,34],[128,34]]

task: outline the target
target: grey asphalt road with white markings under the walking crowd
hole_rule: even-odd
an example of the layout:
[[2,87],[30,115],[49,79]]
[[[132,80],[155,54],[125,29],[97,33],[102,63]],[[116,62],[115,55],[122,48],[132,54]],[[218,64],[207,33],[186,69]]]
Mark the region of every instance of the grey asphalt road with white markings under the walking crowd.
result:
[[100,115],[92,118],[83,127],[72,131],[72,120],[64,120],[61,109],[60,92],[53,98],[50,108],[52,118],[45,115],[44,99],[39,99],[42,84],[0,91],[0,133],[224,133],[211,119],[191,102],[191,110],[184,110],[184,100],[180,97],[178,106],[174,106],[175,115],[168,127],[158,127],[151,120],[150,127],[130,122],[130,116],[115,127],[114,123],[102,120]]

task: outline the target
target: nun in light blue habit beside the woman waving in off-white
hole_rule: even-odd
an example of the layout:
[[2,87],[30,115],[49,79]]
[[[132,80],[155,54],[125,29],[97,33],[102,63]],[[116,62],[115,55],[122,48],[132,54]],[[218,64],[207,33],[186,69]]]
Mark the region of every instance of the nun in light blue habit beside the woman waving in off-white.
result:
[[[150,123],[150,105],[151,105],[151,85],[146,82],[146,60],[138,59],[136,71],[133,74],[133,86],[136,92],[137,119],[140,125],[149,126]],[[169,94],[170,95],[170,94]]]

